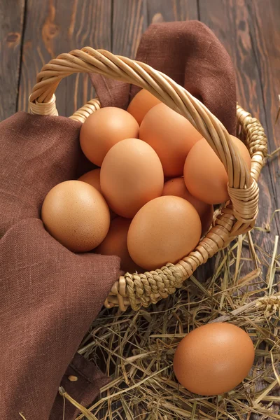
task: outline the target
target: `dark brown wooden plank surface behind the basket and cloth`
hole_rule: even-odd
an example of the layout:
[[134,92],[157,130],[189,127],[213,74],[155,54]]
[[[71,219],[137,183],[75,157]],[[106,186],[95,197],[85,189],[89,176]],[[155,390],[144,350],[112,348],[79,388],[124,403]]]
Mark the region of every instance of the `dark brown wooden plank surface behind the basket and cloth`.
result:
[[[199,19],[232,57],[239,104],[260,119],[269,153],[280,146],[280,0],[1,0],[0,120],[27,111],[41,66],[61,52],[90,45],[134,57],[151,22]],[[69,116],[94,90],[85,75],[71,76],[57,90],[59,114]],[[267,228],[280,208],[279,158],[260,176],[258,226]],[[270,235],[253,239],[271,254],[280,232],[276,214]]]

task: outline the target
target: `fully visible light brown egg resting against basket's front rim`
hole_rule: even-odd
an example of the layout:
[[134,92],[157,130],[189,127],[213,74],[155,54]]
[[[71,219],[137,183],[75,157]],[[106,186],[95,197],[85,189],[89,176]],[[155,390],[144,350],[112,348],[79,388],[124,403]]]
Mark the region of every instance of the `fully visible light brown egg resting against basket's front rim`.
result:
[[181,197],[166,195],[145,204],[134,216],[127,248],[144,269],[176,263],[193,251],[201,237],[200,216]]

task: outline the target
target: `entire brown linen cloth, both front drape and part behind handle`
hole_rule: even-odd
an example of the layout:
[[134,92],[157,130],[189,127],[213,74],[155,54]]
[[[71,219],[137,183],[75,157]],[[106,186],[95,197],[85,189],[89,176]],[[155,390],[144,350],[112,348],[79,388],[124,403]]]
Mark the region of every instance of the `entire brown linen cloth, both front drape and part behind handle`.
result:
[[[202,99],[235,132],[230,57],[200,22],[152,25],[137,59]],[[126,108],[137,88],[92,76],[103,106]],[[46,193],[91,169],[78,144],[80,123],[18,113],[0,124],[0,413],[4,419],[60,420],[59,384],[90,405],[106,378],[76,354],[119,275],[119,259],[74,254],[40,219]],[[69,375],[77,381],[69,381]],[[65,420],[76,409],[66,402]]]

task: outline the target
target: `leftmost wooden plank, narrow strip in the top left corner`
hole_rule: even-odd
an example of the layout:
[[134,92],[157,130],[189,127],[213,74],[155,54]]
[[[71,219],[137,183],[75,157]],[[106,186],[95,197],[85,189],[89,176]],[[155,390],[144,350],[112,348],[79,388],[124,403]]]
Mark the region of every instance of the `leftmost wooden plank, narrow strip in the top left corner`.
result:
[[25,0],[0,2],[0,121],[17,111]]

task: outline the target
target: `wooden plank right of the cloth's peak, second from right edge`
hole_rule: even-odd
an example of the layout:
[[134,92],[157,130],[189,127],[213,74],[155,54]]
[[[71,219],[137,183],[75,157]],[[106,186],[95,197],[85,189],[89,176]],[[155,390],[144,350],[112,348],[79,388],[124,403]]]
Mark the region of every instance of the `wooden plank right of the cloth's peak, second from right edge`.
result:
[[[269,134],[267,111],[262,97],[262,80],[260,80],[258,70],[258,52],[255,51],[252,43],[252,32],[249,25],[251,18],[246,1],[212,0],[209,2],[199,0],[199,8],[200,20],[214,31],[232,58],[237,76],[239,104],[258,118],[265,128],[265,132]],[[266,36],[265,33],[263,36]],[[263,58],[261,59],[263,61]],[[269,141],[271,142],[270,136]],[[270,165],[262,169],[259,186],[260,212],[257,225],[265,228],[269,224],[273,211],[277,208]],[[275,221],[276,223],[272,224],[270,238],[279,232],[279,222],[276,219]],[[268,237],[257,231],[253,232],[253,237],[259,246],[272,253],[273,244]]]

